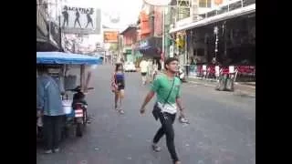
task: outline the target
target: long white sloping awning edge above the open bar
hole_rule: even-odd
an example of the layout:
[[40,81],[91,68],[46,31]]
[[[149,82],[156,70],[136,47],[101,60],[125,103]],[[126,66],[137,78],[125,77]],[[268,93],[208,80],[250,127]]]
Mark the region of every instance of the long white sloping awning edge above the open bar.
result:
[[193,22],[192,24],[186,25],[186,26],[180,26],[177,28],[172,28],[170,30],[170,33],[176,33],[179,31],[183,31],[183,30],[188,30],[188,29],[193,29],[195,27],[199,27],[199,26],[206,26],[209,24],[213,24],[215,22],[219,22],[219,21],[223,21],[226,19],[230,19],[230,18],[234,18],[240,15],[248,15],[251,13],[255,13],[255,4],[254,5],[248,5],[242,8],[238,8],[235,10],[232,10],[228,13],[224,13],[221,15],[214,15],[212,17],[208,17],[208,18],[204,18],[200,21],[197,22]]

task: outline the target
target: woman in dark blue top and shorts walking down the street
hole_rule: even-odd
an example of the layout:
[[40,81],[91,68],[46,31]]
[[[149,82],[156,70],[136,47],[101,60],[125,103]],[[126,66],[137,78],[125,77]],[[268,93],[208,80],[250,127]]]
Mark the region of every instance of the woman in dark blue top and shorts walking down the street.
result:
[[[124,114],[122,109],[122,99],[124,98],[124,89],[125,89],[125,74],[123,66],[121,63],[117,63],[115,71],[111,77],[111,91],[115,94],[115,109]],[[118,101],[119,106],[118,106]]]

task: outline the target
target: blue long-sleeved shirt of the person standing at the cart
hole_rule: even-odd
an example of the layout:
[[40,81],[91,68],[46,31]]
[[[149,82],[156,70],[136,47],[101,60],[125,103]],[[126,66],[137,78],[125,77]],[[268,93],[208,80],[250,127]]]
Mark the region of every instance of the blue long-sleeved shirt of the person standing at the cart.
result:
[[65,115],[60,89],[52,77],[36,78],[36,108],[42,108],[46,116]]

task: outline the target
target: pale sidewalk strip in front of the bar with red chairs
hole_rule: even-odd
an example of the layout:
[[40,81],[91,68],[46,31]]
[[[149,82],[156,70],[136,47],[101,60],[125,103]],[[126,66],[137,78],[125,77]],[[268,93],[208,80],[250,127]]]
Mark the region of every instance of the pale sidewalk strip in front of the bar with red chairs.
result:
[[[205,87],[215,88],[217,86],[217,83],[215,81],[203,80],[200,78],[188,77],[186,80],[187,80],[187,83],[201,85],[201,86],[205,86]],[[234,93],[235,93],[235,95],[238,95],[238,96],[255,97],[255,82],[254,83],[235,82],[235,92]]]

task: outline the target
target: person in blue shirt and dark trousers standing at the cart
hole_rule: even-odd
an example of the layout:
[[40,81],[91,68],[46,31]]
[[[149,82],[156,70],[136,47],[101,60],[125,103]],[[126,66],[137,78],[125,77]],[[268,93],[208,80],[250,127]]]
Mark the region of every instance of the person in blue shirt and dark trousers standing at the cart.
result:
[[47,67],[37,67],[36,111],[43,114],[45,153],[59,151],[62,119],[65,116],[62,107],[61,90],[53,77],[49,76]]

